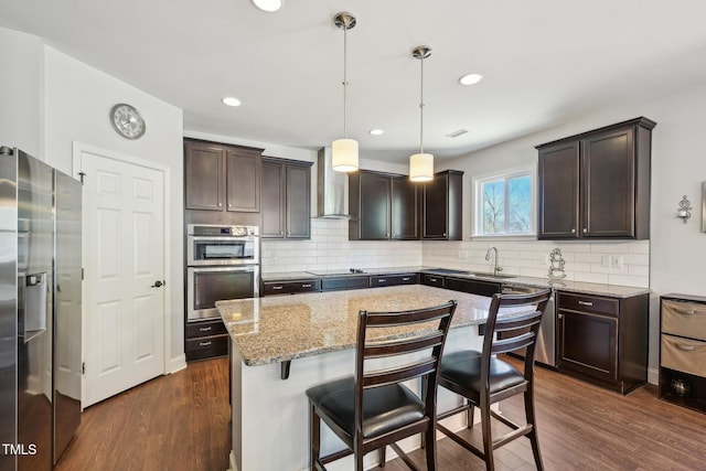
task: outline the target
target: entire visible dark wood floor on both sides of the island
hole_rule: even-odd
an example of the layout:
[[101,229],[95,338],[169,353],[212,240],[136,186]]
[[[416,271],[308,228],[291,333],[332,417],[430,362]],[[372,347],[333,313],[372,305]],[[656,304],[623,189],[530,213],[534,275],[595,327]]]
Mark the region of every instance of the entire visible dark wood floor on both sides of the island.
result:
[[[56,469],[223,471],[231,449],[227,394],[227,360],[190,363],[87,408]],[[547,470],[706,470],[706,415],[659,400],[652,386],[621,396],[538,367],[536,404]],[[521,403],[506,400],[501,410],[520,417]],[[474,439],[477,429],[469,431]],[[450,440],[438,443],[441,471],[485,469]],[[421,453],[411,456],[424,463]],[[534,469],[526,439],[495,457],[499,471]],[[395,460],[385,470],[406,468]]]

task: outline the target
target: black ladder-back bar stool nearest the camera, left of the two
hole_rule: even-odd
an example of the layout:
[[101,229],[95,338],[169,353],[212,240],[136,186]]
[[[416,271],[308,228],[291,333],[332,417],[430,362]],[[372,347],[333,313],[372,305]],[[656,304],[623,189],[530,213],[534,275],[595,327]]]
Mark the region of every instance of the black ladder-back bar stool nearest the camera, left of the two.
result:
[[[355,469],[363,470],[363,457],[391,446],[413,470],[397,441],[425,433],[427,469],[436,470],[436,393],[439,361],[446,343],[456,301],[403,312],[360,312],[355,376],[324,383],[307,390],[310,415],[310,458],[312,470],[354,454]],[[424,325],[427,323],[428,325]],[[427,354],[411,363],[373,370],[370,360],[395,357],[415,352]],[[426,377],[420,399],[402,382]],[[321,420],[345,443],[346,449],[320,456]]]

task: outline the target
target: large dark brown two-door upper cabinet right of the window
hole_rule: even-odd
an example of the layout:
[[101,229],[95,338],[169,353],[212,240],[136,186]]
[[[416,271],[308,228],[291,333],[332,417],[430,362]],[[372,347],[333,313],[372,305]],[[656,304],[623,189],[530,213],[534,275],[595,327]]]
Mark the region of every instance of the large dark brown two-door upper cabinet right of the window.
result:
[[537,146],[537,238],[649,238],[655,126],[635,118]]

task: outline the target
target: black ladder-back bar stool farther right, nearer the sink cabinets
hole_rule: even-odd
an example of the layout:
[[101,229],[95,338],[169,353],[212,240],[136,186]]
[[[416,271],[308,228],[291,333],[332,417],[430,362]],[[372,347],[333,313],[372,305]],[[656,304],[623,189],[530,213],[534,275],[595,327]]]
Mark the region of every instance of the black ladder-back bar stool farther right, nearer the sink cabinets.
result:
[[[446,436],[485,461],[488,470],[494,469],[493,450],[507,442],[527,437],[532,443],[534,461],[543,470],[534,413],[534,352],[539,323],[546,308],[550,290],[528,295],[493,295],[488,312],[483,351],[453,352],[441,361],[439,386],[463,396],[466,405],[437,415],[437,420],[467,411],[468,428],[473,427],[473,407],[481,411],[483,449],[473,446],[447,427],[437,422],[437,428]],[[514,310],[514,313],[498,315],[501,308],[531,307]],[[498,333],[502,332],[502,338]],[[524,371],[520,372],[495,355],[526,349]],[[517,425],[491,410],[490,406],[516,394],[524,394],[525,425]],[[500,420],[512,431],[493,439],[491,417]]]

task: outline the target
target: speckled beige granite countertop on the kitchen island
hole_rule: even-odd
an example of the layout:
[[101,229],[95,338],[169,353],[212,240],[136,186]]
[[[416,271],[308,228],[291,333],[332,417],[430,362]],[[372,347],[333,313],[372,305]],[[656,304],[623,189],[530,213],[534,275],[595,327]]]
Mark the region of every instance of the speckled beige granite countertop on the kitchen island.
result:
[[243,362],[257,366],[354,349],[362,309],[403,311],[451,299],[458,301],[452,329],[486,319],[491,298],[422,285],[235,299],[216,308]]

